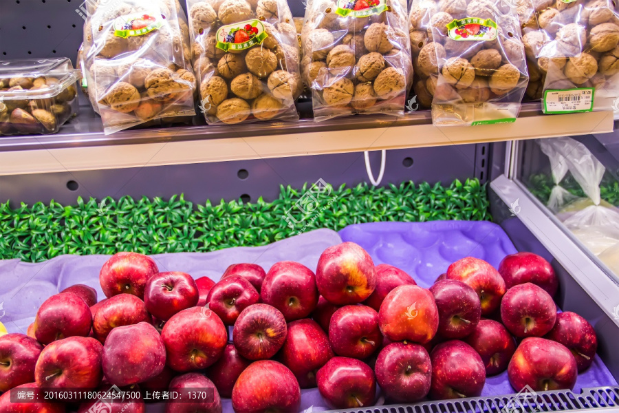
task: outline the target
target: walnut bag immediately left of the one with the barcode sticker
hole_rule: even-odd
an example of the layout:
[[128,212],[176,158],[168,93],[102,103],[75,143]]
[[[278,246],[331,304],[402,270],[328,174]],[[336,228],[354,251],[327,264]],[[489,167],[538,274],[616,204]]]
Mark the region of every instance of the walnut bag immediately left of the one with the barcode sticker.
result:
[[517,118],[528,72],[516,1],[413,1],[415,94],[420,105],[431,105],[435,125]]

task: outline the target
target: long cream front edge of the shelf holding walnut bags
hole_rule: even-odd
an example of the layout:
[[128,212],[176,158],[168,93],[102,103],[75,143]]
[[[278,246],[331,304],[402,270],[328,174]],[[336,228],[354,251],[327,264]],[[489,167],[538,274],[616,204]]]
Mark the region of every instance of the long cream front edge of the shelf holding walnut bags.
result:
[[[351,116],[322,123],[301,119],[292,123],[195,125],[105,136],[100,118],[87,107],[83,109],[85,113],[58,134],[0,138],[0,175],[433,147],[613,130],[612,112],[548,116],[541,114],[539,104],[528,103],[515,123],[477,127],[435,127],[428,111],[418,111],[401,118]],[[122,150],[118,145],[123,145]]]

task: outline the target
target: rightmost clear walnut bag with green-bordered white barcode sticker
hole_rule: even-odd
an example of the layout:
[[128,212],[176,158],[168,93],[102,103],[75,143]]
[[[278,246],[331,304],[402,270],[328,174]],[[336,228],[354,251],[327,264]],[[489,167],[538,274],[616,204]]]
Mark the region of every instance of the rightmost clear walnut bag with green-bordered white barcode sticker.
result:
[[612,0],[536,3],[523,28],[531,76],[527,94],[545,113],[619,105],[619,13]]

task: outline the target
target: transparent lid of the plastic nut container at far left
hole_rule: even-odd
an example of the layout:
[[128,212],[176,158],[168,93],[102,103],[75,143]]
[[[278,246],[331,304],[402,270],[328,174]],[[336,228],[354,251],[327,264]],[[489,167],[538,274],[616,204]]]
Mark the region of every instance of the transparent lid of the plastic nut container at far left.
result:
[[[45,84],[35,85],[34,80],[38,78],[45,78]],[[0,98],[52,98],[77,79],[78,72],[67,57],[0,61]]]

